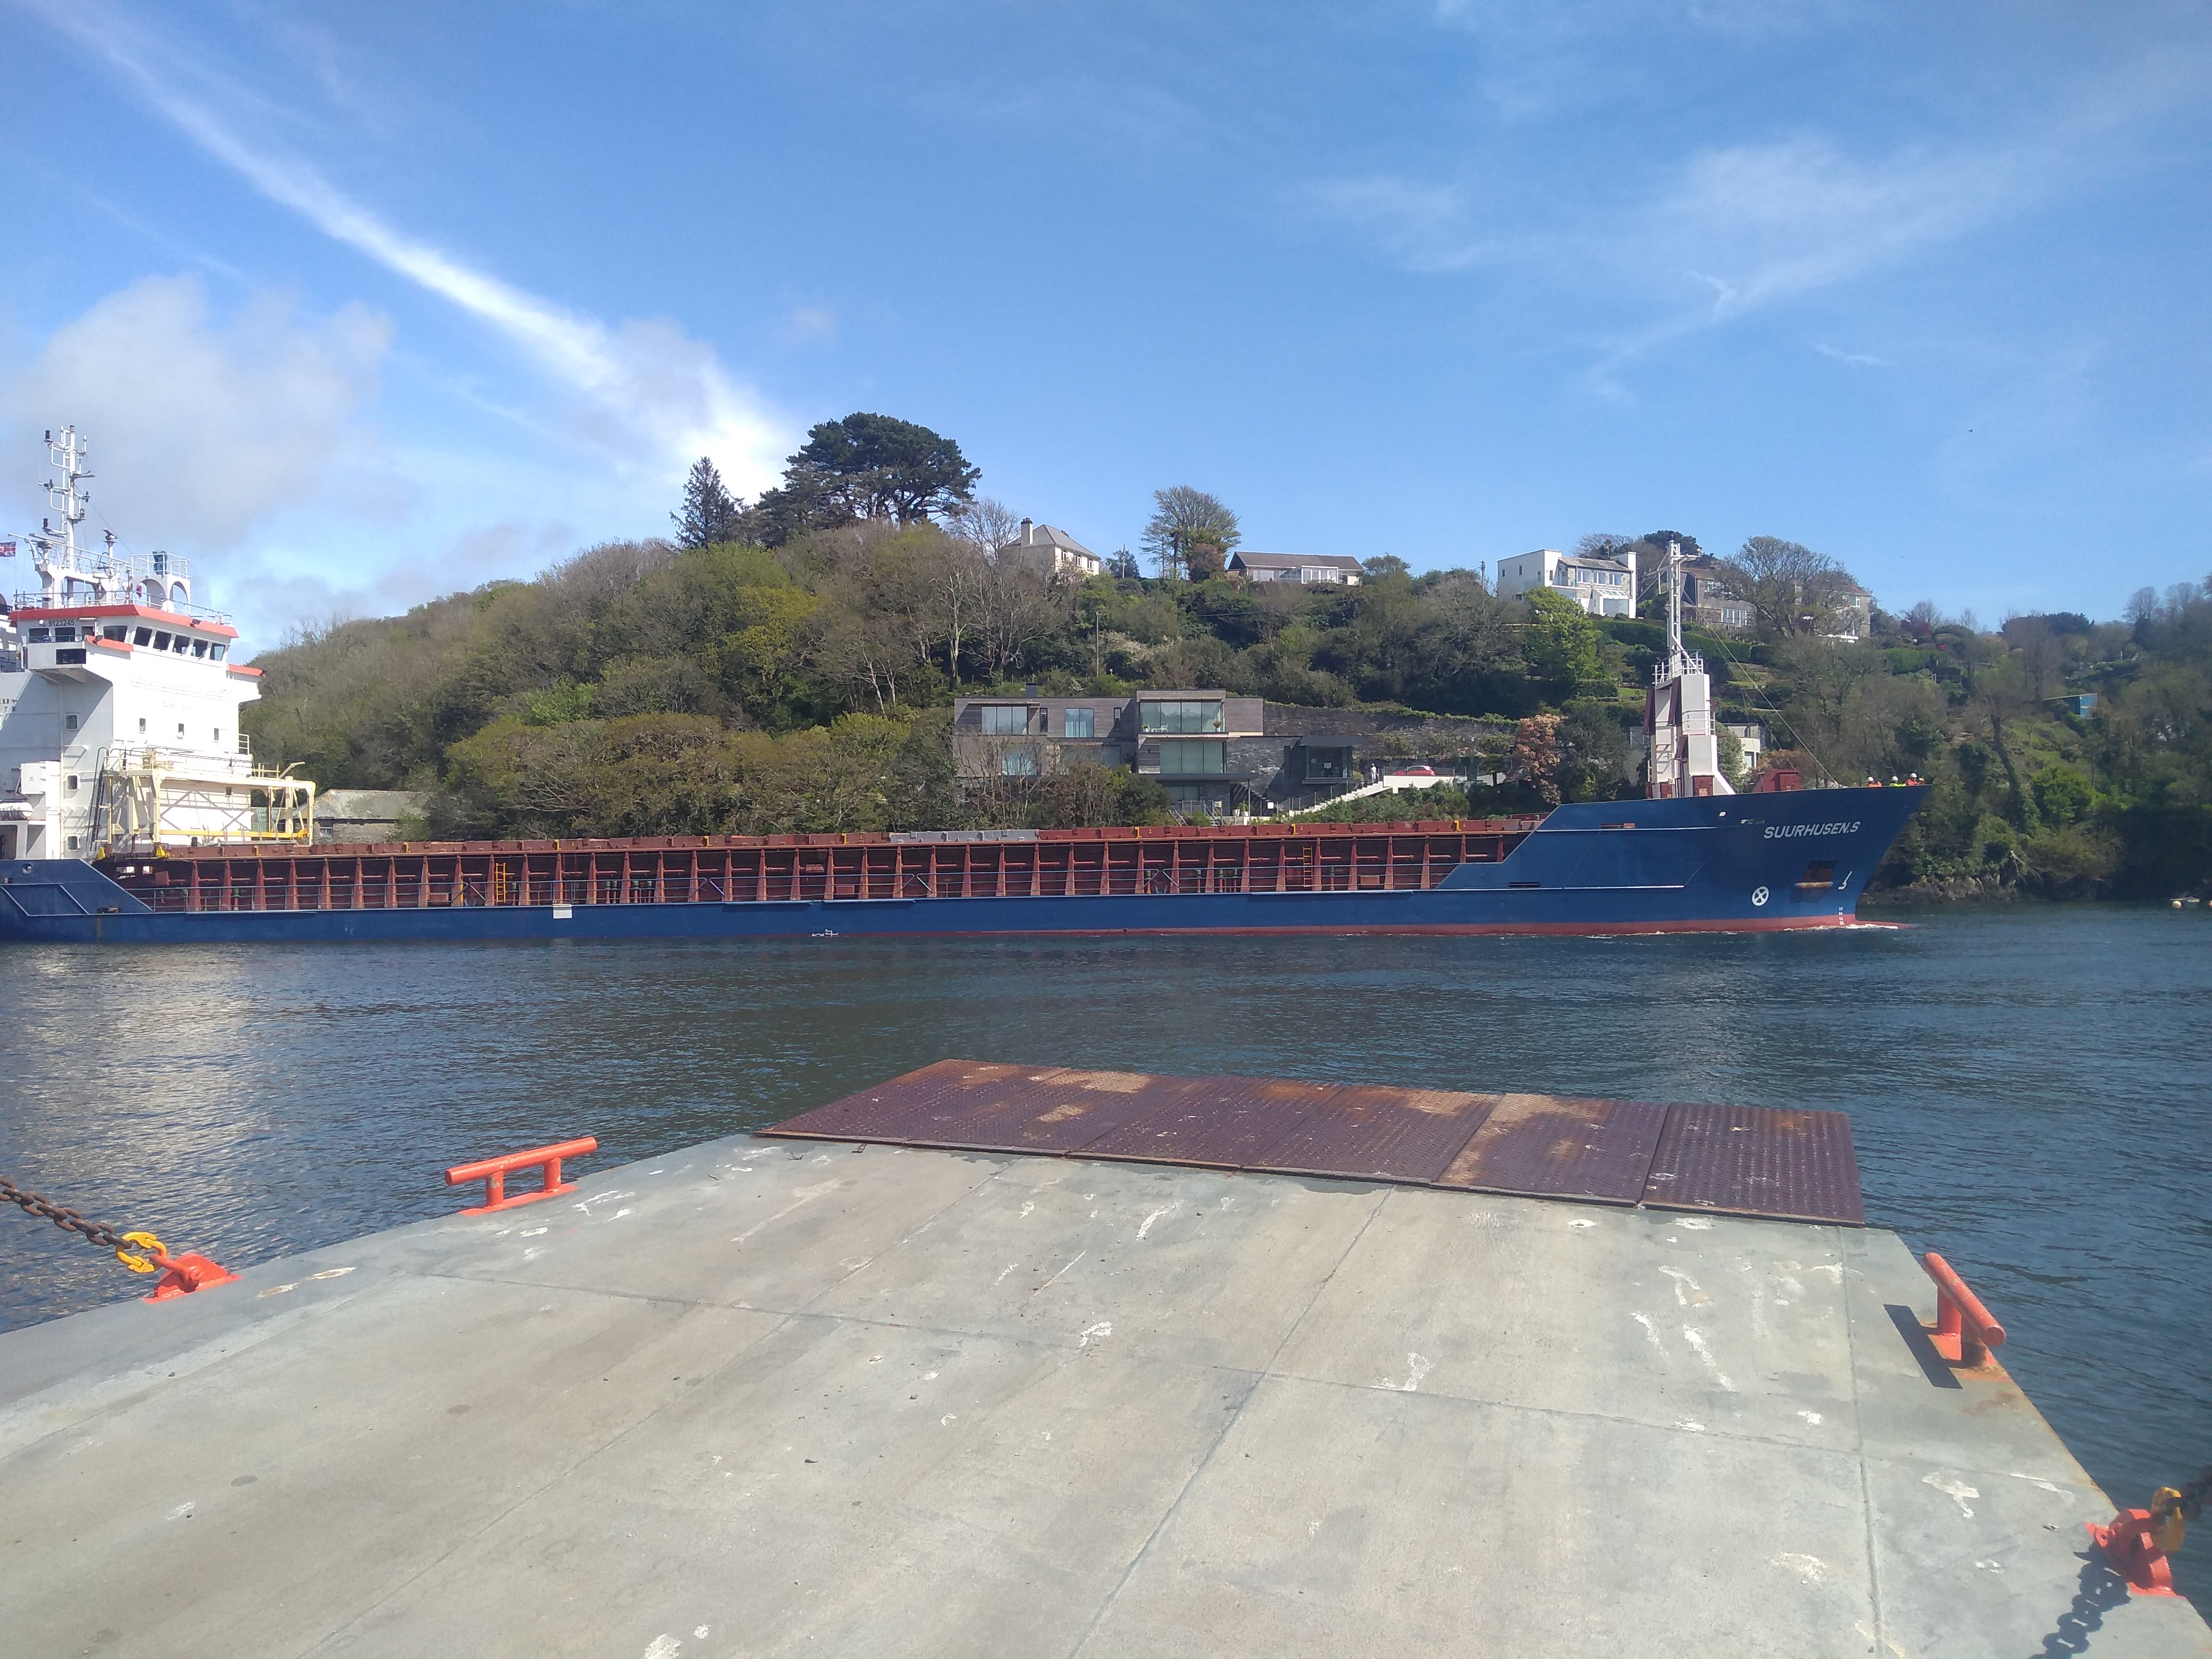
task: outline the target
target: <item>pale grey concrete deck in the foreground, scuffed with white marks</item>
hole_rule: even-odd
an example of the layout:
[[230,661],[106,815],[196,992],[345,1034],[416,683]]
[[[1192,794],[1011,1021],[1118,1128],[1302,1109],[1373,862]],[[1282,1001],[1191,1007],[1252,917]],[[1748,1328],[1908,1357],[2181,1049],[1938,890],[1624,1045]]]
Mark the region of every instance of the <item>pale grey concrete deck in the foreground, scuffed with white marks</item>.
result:
[[739,1135],[0,1336],[0,1648],[2212,1652],[1913,1316],[1869,1228]]

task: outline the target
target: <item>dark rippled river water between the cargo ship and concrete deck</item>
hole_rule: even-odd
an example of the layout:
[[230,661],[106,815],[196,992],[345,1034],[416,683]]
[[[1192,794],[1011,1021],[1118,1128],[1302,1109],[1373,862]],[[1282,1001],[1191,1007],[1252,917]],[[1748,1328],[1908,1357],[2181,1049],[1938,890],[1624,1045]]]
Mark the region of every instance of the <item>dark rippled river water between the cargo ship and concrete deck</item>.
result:
[[[2115,1500],[2212,1462],[2212,914],[1681,938],[0,947],[0,1175],[223,1263],[964,1055],[1829,1106]],[[586,1166],[591,1168],[591,1166]],[[0,1325],[144,1290],[0,1214]],[[2177,1559],[2212,1608],[2212,1520]]]

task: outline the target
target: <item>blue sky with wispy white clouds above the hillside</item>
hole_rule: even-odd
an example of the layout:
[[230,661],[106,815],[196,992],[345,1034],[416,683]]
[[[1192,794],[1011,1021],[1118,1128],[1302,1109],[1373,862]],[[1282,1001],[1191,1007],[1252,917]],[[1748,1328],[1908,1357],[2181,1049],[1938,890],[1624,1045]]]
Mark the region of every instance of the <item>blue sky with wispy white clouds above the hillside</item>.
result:
[[250,644],[852,409],[1102,551],[1188,482],[1984,624],[2212,571],[2194,4],[0,0],[0,526],[73,420]]

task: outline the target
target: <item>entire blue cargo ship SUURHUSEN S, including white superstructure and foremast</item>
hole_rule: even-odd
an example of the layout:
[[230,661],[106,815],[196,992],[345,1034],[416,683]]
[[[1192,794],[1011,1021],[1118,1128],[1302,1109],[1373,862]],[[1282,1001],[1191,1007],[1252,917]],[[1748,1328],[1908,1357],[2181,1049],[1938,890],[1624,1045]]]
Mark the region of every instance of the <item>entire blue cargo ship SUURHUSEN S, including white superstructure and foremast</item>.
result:
[[1794,772],[1734,794],[1674,615],[1648,799],[1542,818],[319,847],[314,785],[239,739],[237,633],[166,553],[77,546],[84,449],[49,445],[62,529],[0,613],[0,940],[1838,927],[1920,801]]

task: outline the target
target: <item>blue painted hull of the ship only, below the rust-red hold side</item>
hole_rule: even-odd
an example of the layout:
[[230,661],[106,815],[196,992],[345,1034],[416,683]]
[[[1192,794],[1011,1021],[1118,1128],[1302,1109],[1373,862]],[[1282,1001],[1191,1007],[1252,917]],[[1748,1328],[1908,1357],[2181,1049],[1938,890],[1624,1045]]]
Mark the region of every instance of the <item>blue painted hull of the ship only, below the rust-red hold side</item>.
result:
[[1701,933],[1849,927],[1918,787],[1566,805],[1396,891],[155,911],[91,865],[0,872],[0,940],[438,942],[1106,933]]

